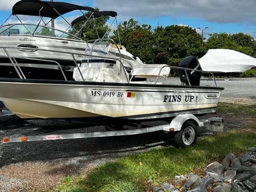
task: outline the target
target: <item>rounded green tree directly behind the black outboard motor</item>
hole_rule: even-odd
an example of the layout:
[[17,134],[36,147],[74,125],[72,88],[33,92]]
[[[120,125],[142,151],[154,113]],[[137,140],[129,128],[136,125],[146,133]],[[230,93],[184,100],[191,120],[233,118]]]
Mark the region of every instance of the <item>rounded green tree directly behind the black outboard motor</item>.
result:
[[201,57],[204,54],[201,36],[189,26],[158,26],[154,30],[154,39],[156,63],[177,66],[187,56]]

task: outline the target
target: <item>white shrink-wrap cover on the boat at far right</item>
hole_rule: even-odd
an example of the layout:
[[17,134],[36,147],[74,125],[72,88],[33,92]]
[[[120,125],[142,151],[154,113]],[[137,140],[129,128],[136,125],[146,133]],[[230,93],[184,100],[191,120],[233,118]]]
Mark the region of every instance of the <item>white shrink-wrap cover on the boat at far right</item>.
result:
[[209,72],[245,72],[256,66],[255,58],[231,49],[209,49],[199,62]]

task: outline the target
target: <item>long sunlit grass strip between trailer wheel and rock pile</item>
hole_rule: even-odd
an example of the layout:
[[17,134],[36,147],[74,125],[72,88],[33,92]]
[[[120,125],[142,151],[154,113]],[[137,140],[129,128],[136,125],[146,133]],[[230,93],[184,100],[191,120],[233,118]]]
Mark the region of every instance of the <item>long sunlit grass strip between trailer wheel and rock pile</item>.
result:
[[100,165],[86,178],[77,178],[75,186],[62,187],[56,191],[140,192],[145,190],[148,180],[154,184],[169,181],[175,175],[186,174],[220,160],[227,153],[244,152],[247,147],[255,146],[255,143],[255,129],[205,136],[186,149],[160,147]]

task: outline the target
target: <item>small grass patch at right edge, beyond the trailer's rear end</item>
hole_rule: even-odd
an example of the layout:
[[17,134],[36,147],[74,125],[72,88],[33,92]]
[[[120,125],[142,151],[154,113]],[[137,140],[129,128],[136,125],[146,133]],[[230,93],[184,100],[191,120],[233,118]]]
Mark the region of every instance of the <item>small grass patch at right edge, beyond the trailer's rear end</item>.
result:
[[241,115],[255,115],[256,104],[239,105],[233,103],[219,103],[216,109],[217,113],[239,113]]

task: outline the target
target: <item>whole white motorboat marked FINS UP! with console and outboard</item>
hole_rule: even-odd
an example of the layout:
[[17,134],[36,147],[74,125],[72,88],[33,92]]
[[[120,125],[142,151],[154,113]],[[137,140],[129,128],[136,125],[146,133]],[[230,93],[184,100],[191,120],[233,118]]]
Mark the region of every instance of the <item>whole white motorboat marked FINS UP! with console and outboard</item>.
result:
[[[73,81],[67,80],[61,68],[63,80],[24,78],[22,70],[17,67],[19,64],[13,63],[12,67],[21,78],[0,78],[0,101],[24,119],[152,120],[183,113],[200,115],[215,112],[224,88],[200,85],[203,71],[195,57],[185,58],[180,67],[152,64],[134,68],[132,76],[154,76],[156,79],[154,82],[133,82],[124,69],[118,47],[119,55],[116,57],[96,54],[99,47],[105,47],[101,53],[108,55],[111,46],[116,45],[112,40],[108,42],[110,39],[105,39],[105,44],[102,40],[86,49],[81,65],[73,59],[76,65]],[[41,51],[49,52],[49,55],[60,52]],[[73,53],[61,53],[73,57]],[[8,50],[6,55],[12,58]],[[170,68],[179,72],[181,85],[164,83]]]

